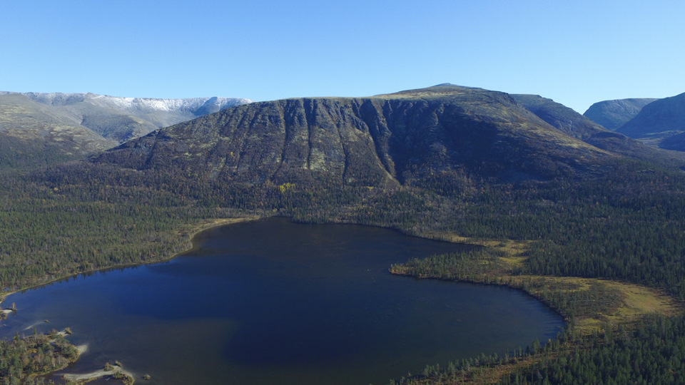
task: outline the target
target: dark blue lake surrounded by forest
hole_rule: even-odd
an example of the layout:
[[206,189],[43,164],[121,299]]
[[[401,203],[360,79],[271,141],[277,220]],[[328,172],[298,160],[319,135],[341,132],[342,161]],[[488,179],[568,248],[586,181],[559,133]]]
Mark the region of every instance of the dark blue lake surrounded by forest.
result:
[[118,360],[141,384],[387,384],[563,327],[514,289],[388,272],[467,245],[279,217],[208,230],[193,245],[169,262],[12,294],[4,305],[19,311],[0,335],[71,327],[88,351],[59,373]]

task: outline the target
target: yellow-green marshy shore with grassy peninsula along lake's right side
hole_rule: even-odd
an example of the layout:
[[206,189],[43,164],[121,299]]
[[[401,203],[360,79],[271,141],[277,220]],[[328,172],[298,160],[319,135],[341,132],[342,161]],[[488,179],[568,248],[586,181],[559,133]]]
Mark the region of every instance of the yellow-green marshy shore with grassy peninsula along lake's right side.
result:
[[[522,351],[519,350],[518,354],[517,351],[513,351],[512,354],[507,355],[507,359],[501,359],[497,356],[489,357],[476,366],[477,369],[475,370],[464,369],[464,366],[460,366],[457,371],[450,372],[449,376],[446,375],[445,369],[429,365],[425,373],[430,372],[430,374],[413,376],[407,381],[407,384],[427,385],[434,384],[436,381],[447,381],[445,383],[450,384],[452,382],[455,384],[496,384],[515,371],[532,367],[544,358],[554,358],[562,354],[562,351],[567,353],[575,351],[577,353],[579,350],[589,349],[587,339],[592,341],[592,339],[597,339],[598,336],[602,335],[604,335],[603,338],[606,338],[607,335],[612,334],[612,330],[620,330],[621,327],[631,329],[641,320],[650,316],[682,317],[684,312],[682,302],[676,301],[661,290],[639,284],[598,278],[517,275],[512,274],[513,272],[510,270],[507,271],[507,267],[511,269],[519,265],[522,262],[520,258],[521,255],[508,252],[499,255],[499,261],[489,260],[483,263],[484,260],[477,257],[472,260],[453,260],[448,262],[448,264],[453,264],[451,271],[450,267],[445,269],[445,265],[434,266],[437,267],[434,269],[429,266],[429,261],[427,265],[423,266],[424,269],[419,272],[417,267],[421,268],[422,263],[427,262],[428,259],[423,262],[414,260],[407,264],[391,267],[391,274],[416,279],[468,282],[514,289],[537,299],[549,309],[562,315],[565,324],[564,331],[557,335],[554,341],[552,339],[549,339],[547,343],[539,340],[533,341],[523,355]],[[497,267],[490,270],[485,268],[485,272],[480,274],[459,275],[457,273],[460,271],[460,264],[470,265],[474,262],[483,266],[497,265]],[[574,292],[594,292],[585,300],[586,304],[582,304],[582,307],[589,309],[589,311],[577,312],[579,307],[573,302],[583,301],[578,297],[574,299]],[[609,299],[603,298],[605,296]],[[564,302],[559,301],[560,297],[565,297],[570,301],[562,306]],[[593,307],[592,302],[605,303]],[[555,343],[556,345],[554,345]],[[548,347],[552,348],[548,349]]]

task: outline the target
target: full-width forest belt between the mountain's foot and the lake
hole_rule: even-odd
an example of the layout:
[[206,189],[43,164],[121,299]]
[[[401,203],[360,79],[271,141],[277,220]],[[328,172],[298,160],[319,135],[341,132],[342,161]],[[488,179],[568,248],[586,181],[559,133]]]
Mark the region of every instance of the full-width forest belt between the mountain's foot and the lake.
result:
[[[681,173],[625,162],[586,180],[493,185],[482,176],[455,175],[436,173],[414,185],[380,188],[305,179],[203,180],[81,162],[4,173],[0,287],[163,260],[187,248],[193,226],[205,220],[287,215],[303,222],[395,227],[413,235],[445,231],[534,240],[519,273],[623,279],[685,297]],[[452,273],[483,282],[483,264],[464,266],[468,270]],[[494,275],[485,275],[494,282]],[[606,288],[594,289],[606,294]]]

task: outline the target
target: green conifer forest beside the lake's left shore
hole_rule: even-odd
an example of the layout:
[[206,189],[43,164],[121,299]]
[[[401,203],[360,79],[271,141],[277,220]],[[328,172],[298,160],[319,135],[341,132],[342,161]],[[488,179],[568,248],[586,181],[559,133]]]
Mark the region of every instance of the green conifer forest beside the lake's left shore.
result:
[[245,215],[166,190],[66,184],[5,175],[0,183],[0,287],[166,260],[190,245],[193,222]]

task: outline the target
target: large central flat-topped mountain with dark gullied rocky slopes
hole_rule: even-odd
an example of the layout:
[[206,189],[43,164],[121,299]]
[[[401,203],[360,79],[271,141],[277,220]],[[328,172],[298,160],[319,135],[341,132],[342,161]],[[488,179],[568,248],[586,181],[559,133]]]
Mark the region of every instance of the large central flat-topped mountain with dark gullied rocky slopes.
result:
[[591,175],[617,156],[506,93],[440,85],[250,103],[156,130],[92,161],[205,181],[388,187]]

